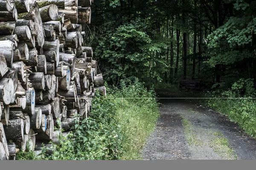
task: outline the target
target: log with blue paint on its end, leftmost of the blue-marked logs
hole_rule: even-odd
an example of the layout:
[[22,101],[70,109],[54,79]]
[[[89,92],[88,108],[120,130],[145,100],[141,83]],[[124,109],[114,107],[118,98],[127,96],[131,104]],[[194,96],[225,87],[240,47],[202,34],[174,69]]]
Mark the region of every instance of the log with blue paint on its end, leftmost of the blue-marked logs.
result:
[[35,90],[34,88],[29,88],[26,91],[26,108],[24,112],[28,113],[30,116],[34,114],[35,109]]

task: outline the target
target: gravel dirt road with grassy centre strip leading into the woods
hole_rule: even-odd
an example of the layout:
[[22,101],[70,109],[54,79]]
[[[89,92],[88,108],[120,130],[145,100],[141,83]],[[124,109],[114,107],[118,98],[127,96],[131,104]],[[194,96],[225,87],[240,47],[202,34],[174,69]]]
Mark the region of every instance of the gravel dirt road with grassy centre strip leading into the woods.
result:
[[256,140],[194,99],[160,99],[161,116],[143,159],[256,159]]

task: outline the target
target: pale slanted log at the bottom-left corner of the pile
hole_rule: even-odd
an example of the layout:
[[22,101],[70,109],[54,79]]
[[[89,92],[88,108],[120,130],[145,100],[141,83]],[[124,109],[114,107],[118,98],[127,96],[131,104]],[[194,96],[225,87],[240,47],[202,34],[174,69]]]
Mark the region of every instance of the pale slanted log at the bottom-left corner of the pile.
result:
[[5,130],[3,124],[0,122],[0,160],[9,159],[9,150],[6,141]]

